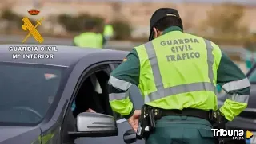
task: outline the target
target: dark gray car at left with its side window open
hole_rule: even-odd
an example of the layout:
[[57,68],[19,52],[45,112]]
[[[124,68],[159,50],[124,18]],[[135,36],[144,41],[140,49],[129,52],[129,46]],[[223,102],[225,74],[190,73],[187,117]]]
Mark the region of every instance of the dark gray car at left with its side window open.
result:
[[[25,46],[0,45],[1,144],[124,143],[130,126],[111,110],[107,81],[127,52],[71,46],[39,52]],[[138,88],[130,91],[139,109]],[[87,108],[98,113],[85,112]]]

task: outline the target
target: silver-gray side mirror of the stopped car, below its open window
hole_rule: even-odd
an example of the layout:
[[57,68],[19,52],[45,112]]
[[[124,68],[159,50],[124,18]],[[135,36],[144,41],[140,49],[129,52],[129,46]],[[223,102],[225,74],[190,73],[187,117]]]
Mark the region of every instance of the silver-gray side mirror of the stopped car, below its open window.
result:
[[118,136],[117,123],[113,116],[94,112],[83,112],[77,116],[77,131],[70,131],[72,137]]

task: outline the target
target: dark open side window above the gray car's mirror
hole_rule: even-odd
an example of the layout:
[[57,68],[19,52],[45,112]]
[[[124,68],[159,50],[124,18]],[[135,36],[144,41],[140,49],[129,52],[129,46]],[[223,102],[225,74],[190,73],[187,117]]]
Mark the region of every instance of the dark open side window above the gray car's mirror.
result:
[[117,120],[122,119],[122,115],[112,111],[109,103],[108,80],[109,73],[103,68],[100,71],[93,72],[86,80],[82,82],[78,94],[75,96],[71,110],[74,118],[78,114],[89,109],[105,115],[113,115]]

